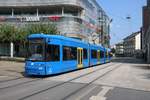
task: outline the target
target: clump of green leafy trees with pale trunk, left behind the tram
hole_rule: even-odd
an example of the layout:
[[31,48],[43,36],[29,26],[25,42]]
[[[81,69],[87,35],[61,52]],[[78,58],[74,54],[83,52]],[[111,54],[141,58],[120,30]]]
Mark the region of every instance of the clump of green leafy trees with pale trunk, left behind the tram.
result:
[[57,28],[54,24],[50,23],[32,23],[18,27],[2,24],[0,26],[0,42],[10,43],[10,55],[13,57],[13,43],[16,43],[17,50],[19,50],[20,44],[25,49],[27,36],[35,33],[57,34]]

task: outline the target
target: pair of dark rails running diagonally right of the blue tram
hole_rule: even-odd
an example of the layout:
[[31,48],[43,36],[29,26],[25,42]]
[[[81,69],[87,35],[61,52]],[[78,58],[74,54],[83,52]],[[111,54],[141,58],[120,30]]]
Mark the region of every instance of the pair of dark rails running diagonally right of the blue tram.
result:
[[[118,64],[111,64],[111,65],[108,65],[108,66],[99,68],[99,69],[94,70],[94,71],[92,71],[92,72],[89,72],[89,73],[86,73],[86,74],[77,76],[77,77],[75,77],[75,78],[72,78],[72,79],[70,79],[70,80],[68,80],[68,81],[65,81],[65,82],[56,84],[56,85],[54,85],[54,86],[50,86],[50,87],[48,87],[47,89],[43,89],[43,90],[40,90],[40,91],[35,92],[35,93],[33,93],[33,94],[27,95],[27,96],[25,96],[25,97],[23,97],[23,98],[20,98],[19,100],[25,100],[25,99],[27,99],[27,98],[33,97],[33,96],[38,95],[38,94],[43,93],[43,92],[46,92],[46,91],[51,90],[51,89],[53,89],[53,88],[56,88],[56,87],[58,87],[58,86],[64,85],[64,84],[69,83],[69,82],[72,82],[72,81],[74,81],[74,80],[76,80],[76,79],[80,79],[80,78],[82,78],[82,77],[85,77],[85,76],[87,76],[87,75],[93,74],[93,73],[98,72],[98,71],[100,71],[100,70],[109,68],[109,67],[111,67],[111,66],[113,66],[113,65],[117,65],[117,66],[116,66],[115,68],[113,68],[112,70],[107,71],[107,72],[104,73],[103,75],[97,77],[96,79],[92,80],[90,83],[86,84],[85,86],[79,88],[77,91],[74,91],[73,93],[69,94],[69,95],[67,96],[67,98],[68,98],[68,97],[72,96],[74,93],[76,93],[76,92],[80,91],[81,89],[83,89],[83,88],[89,86],[89,85],[92,84],[94,81],[98,80],[99,78],[101,78],[101,77],[105,76],[106,74],[112,72],[113,70],[117,69],[118,66],[120,66],[121,64],[119,64],[119,65],[118,65]],[[66,98],[64,98],[63,100],[65,100],[65,99],[66,99]]]

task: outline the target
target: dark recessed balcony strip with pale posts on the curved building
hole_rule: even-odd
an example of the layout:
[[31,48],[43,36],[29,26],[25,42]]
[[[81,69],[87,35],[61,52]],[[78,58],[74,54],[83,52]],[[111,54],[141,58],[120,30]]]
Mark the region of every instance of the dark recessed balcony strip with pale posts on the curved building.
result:
[[50,6],[50,7],[21,7],[21,8],[0,8],[0,16],[5,17],[30,17],[30,16],[74,16],[80,17],[81,9],[73,6]]

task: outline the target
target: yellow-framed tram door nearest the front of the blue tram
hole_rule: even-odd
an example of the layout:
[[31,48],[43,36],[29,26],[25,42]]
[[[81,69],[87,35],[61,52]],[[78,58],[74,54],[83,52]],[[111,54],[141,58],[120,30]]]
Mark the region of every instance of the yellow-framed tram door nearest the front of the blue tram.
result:
[[78,68],[83,68],[83,48],[77,49],[77,64]]

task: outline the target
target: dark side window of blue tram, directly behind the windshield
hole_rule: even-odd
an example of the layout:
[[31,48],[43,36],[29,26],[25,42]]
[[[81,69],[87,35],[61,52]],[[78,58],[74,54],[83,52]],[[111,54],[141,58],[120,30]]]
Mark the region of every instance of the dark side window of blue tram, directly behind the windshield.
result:
[[46,60],[47,61],[60,61],[60,46],[59,45],[47,46]]

